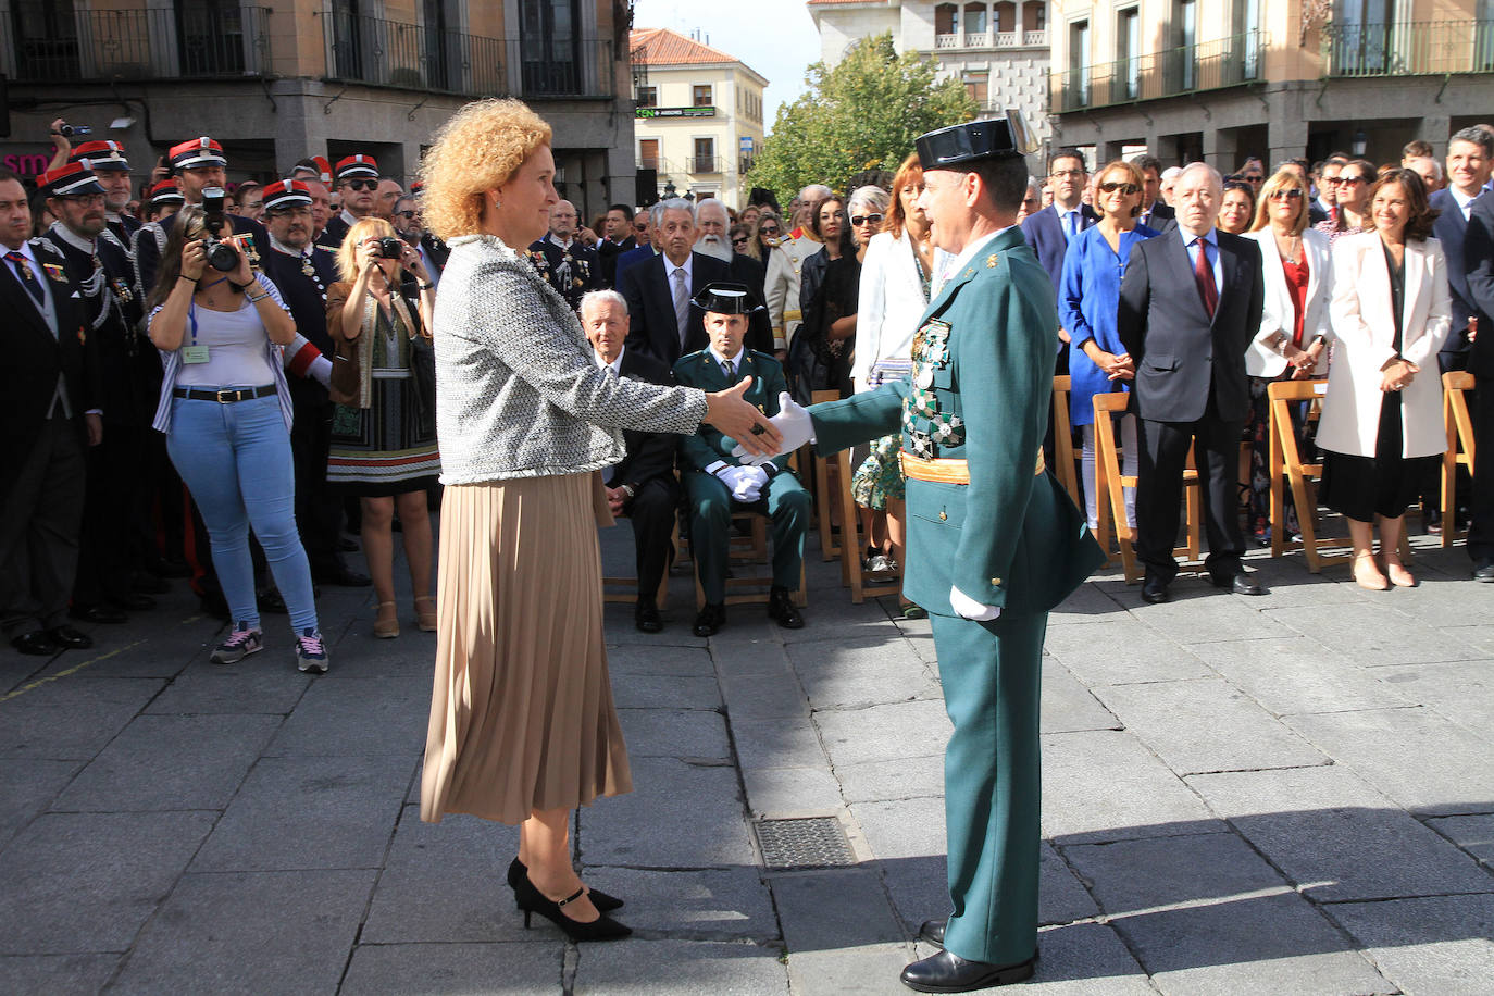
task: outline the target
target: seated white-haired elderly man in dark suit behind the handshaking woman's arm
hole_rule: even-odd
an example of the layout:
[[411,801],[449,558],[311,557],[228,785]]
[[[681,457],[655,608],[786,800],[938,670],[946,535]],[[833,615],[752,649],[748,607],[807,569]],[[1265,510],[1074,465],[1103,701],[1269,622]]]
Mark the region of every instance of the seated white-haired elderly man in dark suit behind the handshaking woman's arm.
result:
[[[627,340],[627,302],[617,291],[592,291],[581,299],[581,327],[596,351],[596,363],[611,367],[620,378],[674,384],[669,367]],[[680,482],[674,476],[674,454],[680,446],[671,433],[623,430],[627,455],[602,472],[607,502],[613,515],[633,523],[633,554],[638,576],[638,602],[633,623],[644,633],[663,629],[656,593],[674,558],[674,515],[680,508]]]

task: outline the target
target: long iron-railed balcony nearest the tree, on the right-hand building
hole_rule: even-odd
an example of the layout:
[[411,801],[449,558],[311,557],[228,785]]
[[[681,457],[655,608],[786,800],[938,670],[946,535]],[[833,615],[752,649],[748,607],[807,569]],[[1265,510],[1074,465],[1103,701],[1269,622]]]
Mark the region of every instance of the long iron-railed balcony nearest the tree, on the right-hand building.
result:
[[1246,31],[1228,37],[1049,73],[1049,111],[1086,111],[1239,87],[1264,79],[1268,36]]

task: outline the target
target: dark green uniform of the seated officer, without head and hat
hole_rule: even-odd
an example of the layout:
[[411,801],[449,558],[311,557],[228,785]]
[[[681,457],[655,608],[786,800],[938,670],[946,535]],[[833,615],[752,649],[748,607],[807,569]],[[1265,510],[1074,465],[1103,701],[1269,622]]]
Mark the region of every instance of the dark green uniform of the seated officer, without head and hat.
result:
[[[720,360],[710,349],[701,349],[680,357],[674,364],[674,379],[684,387],[702,391],[725,391],[744,376],[751,376],[751,387],[744,399],[765,415],[778,414],[778,393],[789,390],[783,366],[763,352],[743,348],[737,354],[737,367],[731,378]],[[883,433],[886,435],[886,433]],[[810,523],[810,494],[789,470],[789,455],[774,458],[763,467],[769,473],[762,496],[753,505],[741,505],[732,499],[726,484],[705,467],[717,461],[737,466],[732,455],[737,441],[723,436],[714,426],[701,426],[693,436],[680,443],[680,466],[686,469],[684,493],[690,509],[690,541],[705,590],[705,600],[720,605],[726,596],[728,545],[731,542],[732,509],[751,508],[766,512],[772,521],[772,584],[796,590],[799,569],[804,563],[804,530]]]

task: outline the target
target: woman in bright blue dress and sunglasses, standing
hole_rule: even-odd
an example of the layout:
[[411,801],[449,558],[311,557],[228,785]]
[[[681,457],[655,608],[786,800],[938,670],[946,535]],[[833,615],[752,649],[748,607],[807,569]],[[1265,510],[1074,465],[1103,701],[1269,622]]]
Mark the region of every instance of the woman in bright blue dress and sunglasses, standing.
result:
[[[1098,524],[1095,503],[1095,394],[1128,390],[1135,364],[1116,334],[1116,308],[1120,278],[1125,275],[1131,246],[1156,234],[1137,224],[1146,178],[1135,166],[1116,160],[1100,172],[1095,184],[1095,211],[1100,224],[1091,225],[1068,243],[1064,276],[1058,285],[1058,317],[1070,334],[1068,418],[1083,432],[1082,473],[1085,512],[1089,527]],[[1120,420],[1120,445],[1125,449],[1122,473],[1137,472],[1135,415]],[[1125,490],[1126,520],[1135,524],[1135,488]]]

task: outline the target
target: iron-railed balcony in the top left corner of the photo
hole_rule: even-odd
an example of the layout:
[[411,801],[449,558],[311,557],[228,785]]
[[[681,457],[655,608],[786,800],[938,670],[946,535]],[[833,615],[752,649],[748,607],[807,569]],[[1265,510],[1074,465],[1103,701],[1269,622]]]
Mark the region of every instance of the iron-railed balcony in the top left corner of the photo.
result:
[[270,9],[73,10],[28,37],[0,16],[0,70],[18,84],[269,76]]

